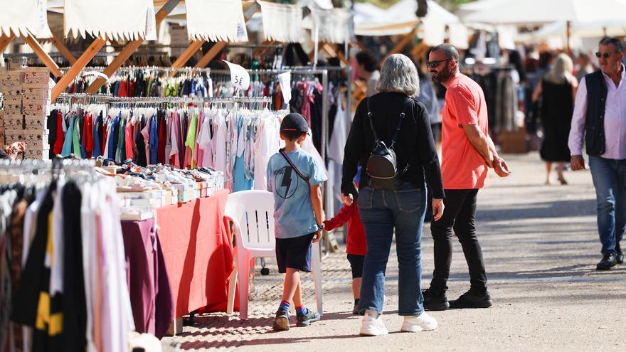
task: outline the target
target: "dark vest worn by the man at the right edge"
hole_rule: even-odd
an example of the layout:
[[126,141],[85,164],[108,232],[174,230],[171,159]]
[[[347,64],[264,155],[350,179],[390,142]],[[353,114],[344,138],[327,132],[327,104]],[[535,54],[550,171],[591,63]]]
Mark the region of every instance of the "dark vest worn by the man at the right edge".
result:
[[587,154],[600,156],[606,151],[604,113],[607,86],[602,70],[585,75],[587,84],[587,114],[585,115],[585,144]]

